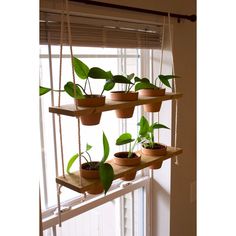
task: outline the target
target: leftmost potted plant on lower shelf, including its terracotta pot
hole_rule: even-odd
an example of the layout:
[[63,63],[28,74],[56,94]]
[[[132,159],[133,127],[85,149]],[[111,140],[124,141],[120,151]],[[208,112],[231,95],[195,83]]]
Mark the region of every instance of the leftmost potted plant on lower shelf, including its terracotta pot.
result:
[[67,173],[70,174],[70,168],[77,158],[84,158],[86,161],[81,165],[80,175],[86,179],[100,179],[101,183],[97,184],[93,188],[89,189],[87,192],[90,194],[99,194],[104,191],[106,194],[109,190],[112,181],[114,179],[114,171],[109,163],[106,163],[109,156],[109,143],[105,133],[103,132],[103,157],[100,162],[92,161],[89,154],[89,150],[92,148],[91,145],[87,144],[85,151],[80,154],[75,154],[72,156],[67,164]]

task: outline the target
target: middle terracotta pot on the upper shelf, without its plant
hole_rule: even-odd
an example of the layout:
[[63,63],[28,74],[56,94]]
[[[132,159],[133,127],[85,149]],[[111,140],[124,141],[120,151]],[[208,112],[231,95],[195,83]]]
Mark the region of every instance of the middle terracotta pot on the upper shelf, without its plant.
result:
[[[126,93],[124,91],[116,91],[111,92],[110,97],[112,101],[136,101],[138,100],[138,92]],[[133,116],[133,113],[134,106],[116,110],[116,116],[118,118],[130,118]]]

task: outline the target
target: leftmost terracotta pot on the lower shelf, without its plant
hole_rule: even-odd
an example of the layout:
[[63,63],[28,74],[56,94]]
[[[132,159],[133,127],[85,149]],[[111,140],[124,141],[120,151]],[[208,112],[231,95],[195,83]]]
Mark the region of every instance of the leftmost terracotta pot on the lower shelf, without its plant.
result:
[[[94,164],[98,164],[99,162],[92,162]],[[90,169],[88,163],[83,163],[80,170],[81,177],[85,179],[100,179],[99,170],[97,169]],[[104,191],[104,188],[101,183],[98,183],[93,188],[89,189],[87,192],[90,194],[100,194]]]

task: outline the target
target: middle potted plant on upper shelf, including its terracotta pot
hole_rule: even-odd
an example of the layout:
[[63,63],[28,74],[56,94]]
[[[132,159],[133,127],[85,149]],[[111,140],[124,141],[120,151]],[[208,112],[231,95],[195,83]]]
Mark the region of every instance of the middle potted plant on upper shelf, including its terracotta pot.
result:
[[[134,74],[127,75],[115,75],[112,77],[112,82],[126,84],[124,91],[114,91],[110,93],[110,98],[112,101],[136,101],[138,100],[138,92],[131,91],[132,87],[135,84]],[[134,106],[128,108],[122,108],[116,110],[116,116],[118,118],[130,118],[133,116]]]

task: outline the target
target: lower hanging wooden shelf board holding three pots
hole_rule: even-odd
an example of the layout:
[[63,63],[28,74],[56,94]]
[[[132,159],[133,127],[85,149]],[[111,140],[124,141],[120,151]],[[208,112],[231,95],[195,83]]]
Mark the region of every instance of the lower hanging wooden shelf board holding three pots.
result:
[[[114,164],[112,160],[109,160],[108,163],[110,163],[113,167],[115,174],[114,180],[115,180],[123,177],[125,174],[129,174],[130,172],[144,169],[148,166],[160,163],[171,157],[177,156],[182,152],[183,149],[181,148],[167,147],[167,154],[165,156],[153,157],[153,156],[141,155],[141,164],[138,166],[118,166]],[[137,153],[140,155],[140,151],[138,151]],[[99,180],[90,180],[82,178],[82,185],[80,185],[80,178],[81,177],[79,171],[76,171],[74,173],[71,173],[70,175],[65,175],[65,177],[63,176],[57,177],[56,182],[62,186],[65,186],[79,193],[86,192],[93,186],[96,186],[99,182]]]

